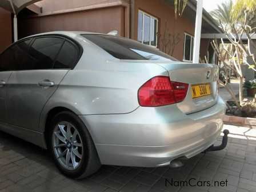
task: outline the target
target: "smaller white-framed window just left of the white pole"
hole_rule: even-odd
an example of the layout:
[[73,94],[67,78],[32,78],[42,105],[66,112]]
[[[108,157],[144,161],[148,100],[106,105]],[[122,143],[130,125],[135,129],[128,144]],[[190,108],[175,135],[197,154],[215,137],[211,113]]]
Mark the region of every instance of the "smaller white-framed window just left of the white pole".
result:
[[183,53],[184,61],[192,61],[193,60],[193,50],[194,50],[194,37],[185,33],[184,53]]

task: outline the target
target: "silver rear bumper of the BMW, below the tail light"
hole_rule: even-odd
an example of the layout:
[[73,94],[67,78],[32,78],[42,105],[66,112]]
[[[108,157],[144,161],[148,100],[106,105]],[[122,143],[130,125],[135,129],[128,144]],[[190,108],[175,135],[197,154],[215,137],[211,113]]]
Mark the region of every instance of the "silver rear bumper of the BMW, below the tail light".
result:
[[129,114],[80,116],[89,127],[102,164],[157,167],[191,158],[221,133],[225,103],[183,114],[177,106],[139,107]]

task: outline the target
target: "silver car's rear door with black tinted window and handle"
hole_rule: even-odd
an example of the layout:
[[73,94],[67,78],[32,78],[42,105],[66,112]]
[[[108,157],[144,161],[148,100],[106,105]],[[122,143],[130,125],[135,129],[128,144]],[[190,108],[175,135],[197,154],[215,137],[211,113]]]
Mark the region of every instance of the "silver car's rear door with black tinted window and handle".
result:
[[[38,37],[30,43],[26,62],[9,79],[11,124],[38,130],[43,106],[71,68],[69,59],[77,58],[77,52],[66,50],[67,43],[71,42],[62,37]],[[19,56],[16,59],[19,62]]]

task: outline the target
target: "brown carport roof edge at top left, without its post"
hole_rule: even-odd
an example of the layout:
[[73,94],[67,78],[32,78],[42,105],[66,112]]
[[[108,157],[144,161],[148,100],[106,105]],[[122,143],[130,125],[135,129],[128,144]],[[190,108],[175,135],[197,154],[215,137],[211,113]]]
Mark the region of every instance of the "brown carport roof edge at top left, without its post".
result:
[[32,11],[35,11],[35,13],[38,13],[38,11],[41,11],[40,8],[37,7],[36,5],[31,6],[33,3],[38,1],[41,1],[41,0],[1,0],[0,7],[2,7],[7,11],[10,11],[11,13],[18,14],[19,11],[29,6],[32,9]]

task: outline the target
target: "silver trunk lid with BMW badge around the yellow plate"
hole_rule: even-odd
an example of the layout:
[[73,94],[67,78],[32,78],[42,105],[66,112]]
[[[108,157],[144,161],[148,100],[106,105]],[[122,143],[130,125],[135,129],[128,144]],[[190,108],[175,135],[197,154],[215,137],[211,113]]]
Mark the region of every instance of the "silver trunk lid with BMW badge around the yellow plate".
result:
[[[211,64],[194,64],[194,63],[158,63],[164,67],[169,75],[171,81],[182,82],[189,84],[189,90],[184,101],[177,103],[177,106],[183,113],[191,114],[197,111],[207,109],[217,102],[218,96],[218,66]],[[194,98],[193,87],[210,86],[210,94],[202,97]],[[208,87],[209,87],[208,86]],[[200,87],[194,91],[199,90]],[[201,88],[200,88],[201,89]],[[203,92],[203,91],[202,91]],[[206,91],[207,92],[207,91]],[[209,92],[209,90],[208,90]],[[198,96],[198,95],[197,95]]]

